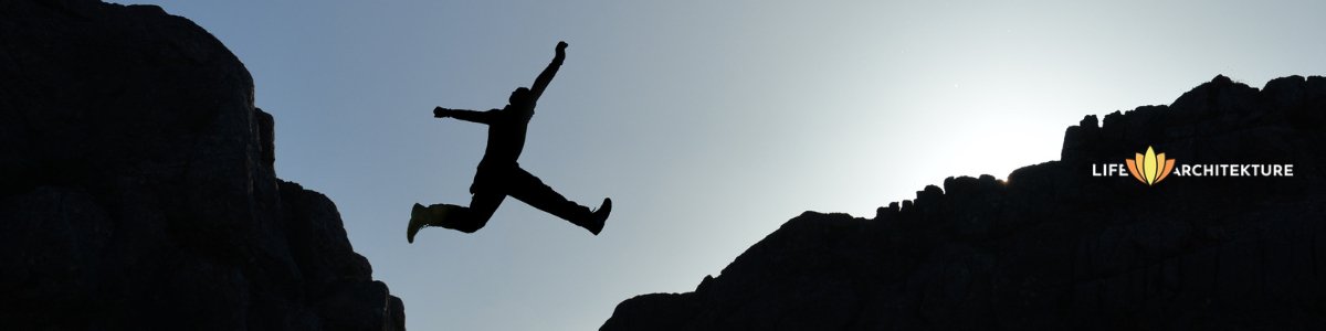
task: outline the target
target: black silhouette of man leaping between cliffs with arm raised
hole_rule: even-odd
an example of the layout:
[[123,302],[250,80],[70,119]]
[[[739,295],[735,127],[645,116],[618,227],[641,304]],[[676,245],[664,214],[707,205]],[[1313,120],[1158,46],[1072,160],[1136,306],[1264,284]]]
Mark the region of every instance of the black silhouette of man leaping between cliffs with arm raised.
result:
[[414,244],[414,237],[424,226],[442,226],[465,233],[479,230],[488,224],[497,207],[507,196],[524,201],[540,211],[548,212],[572,224],[587,229],[594,236],[603,230],[603,222],[613,211],[613,200],[603,199],[603,205],[598,211],[590,212],[566,200],[561,193],[544,184],[534,175],[520,168],[516,162],[521,150],[525,148],[525,130],[529,128],[529,119],[534,115],[534,103],[544,94],[544,89],[553,81],[557,69],[566,60],[566,42],[557,42],[557,56],[548,68],[538,74],[530,89],[520,87],[511,93],[507,107],[488,111],[452,110],[436,107],[432,110],[435,118],[455,118],[481,124],[488,124],[488,148],[475,173],[475,183],[469,185],[469,207],[451,204],[435,204],[423,207],[415,204],[410,212],[410,226],[406,229],[406,240]]

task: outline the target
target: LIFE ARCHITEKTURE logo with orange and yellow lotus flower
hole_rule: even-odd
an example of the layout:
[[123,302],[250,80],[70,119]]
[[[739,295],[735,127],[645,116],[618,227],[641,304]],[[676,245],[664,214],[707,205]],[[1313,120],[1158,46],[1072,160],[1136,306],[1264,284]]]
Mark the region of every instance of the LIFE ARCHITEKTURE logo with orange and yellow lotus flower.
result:
[[1177,177],[1293,177],[1294,164],[1175,164],[1175,159],[1158,154],[1147,146],[1146,154],[1134,154],[1132,159],[1119,163],[1093,163],[1091,176],[1107,177],[1132,176],[1142,184],[1152,187],[1171,175]]

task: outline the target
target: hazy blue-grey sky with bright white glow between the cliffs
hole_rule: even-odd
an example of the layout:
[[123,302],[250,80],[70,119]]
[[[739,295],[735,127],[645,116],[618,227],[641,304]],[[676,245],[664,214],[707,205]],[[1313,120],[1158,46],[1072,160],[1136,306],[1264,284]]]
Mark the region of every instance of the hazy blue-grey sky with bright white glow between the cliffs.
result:
[[[276,118],[277,176],[325,193],[412,330],[597,330],[691,291],[804,211],[873,217],[948,176],[1055,160],[1083,115],[1225,74],[1326,73],[1322,1],[133,1],[206,28]],[[522,168],[603,233],[508,199],[473,234],[488,110],[570,44]]]

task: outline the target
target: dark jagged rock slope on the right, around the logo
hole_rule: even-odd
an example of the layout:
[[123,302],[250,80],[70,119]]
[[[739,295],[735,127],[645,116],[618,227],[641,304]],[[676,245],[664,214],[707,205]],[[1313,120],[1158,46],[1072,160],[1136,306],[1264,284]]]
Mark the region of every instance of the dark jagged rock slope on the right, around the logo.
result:
[[[1154,146],[1293,177],[1093,176]],[[1326,328],[1326,78],[1216,77],[1170,106],[1086,117],[1061,160],[949,177],[874,218],[806,212],[693,293],[601,330]]]

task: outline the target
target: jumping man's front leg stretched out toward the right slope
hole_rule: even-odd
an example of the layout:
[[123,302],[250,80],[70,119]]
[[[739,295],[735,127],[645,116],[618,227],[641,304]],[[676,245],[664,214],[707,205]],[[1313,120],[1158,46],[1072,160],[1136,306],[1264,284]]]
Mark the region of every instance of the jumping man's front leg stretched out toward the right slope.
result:
[[605,199],[599,212],[590,212],[587,207],[566,200],[565,196],[525,169],[516,168],[508,176],[507,193],[511,197],[579,225],[590,233],[598,234],[603,229],[603,220],[607,218],[607,212],[611,209],[611,200]]

